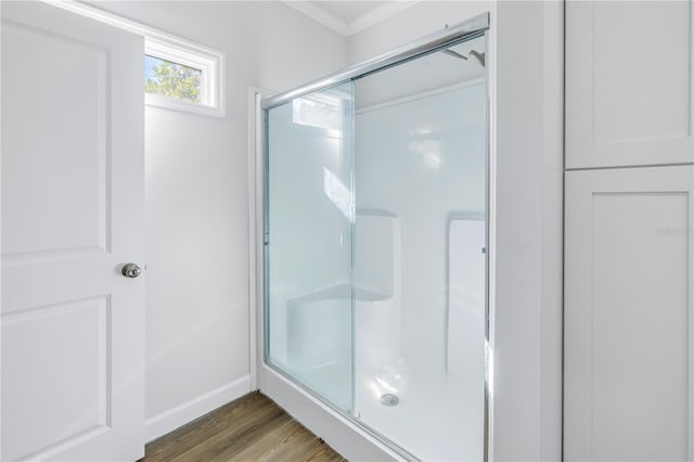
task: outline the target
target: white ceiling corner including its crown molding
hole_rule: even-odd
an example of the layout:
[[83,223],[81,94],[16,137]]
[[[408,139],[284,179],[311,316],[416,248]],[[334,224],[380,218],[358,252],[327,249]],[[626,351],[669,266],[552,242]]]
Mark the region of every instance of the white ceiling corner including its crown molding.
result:
[[285,0],[285,3],[336,33],[350,36],[407,10],[419,1],[421,0]]

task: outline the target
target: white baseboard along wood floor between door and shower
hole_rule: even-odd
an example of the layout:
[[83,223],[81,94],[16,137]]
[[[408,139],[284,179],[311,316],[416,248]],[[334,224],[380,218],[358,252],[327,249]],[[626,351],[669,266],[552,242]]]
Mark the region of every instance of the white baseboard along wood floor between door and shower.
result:
[[249,392],[250,375],[244,375],[176,408],[154,415],[144,422],[144,439],[152,441]]

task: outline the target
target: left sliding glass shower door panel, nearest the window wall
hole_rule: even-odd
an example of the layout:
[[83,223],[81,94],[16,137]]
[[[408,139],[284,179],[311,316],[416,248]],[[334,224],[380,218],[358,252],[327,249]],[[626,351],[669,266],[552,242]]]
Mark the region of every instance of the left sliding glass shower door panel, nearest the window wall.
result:
[[266,124],[266,360],[350,412],[354,86],[272,107]]

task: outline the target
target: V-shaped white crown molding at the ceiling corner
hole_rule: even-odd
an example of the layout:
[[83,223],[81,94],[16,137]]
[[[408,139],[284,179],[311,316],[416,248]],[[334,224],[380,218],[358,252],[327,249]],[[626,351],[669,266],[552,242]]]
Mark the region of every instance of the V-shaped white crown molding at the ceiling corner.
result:
[[350,23],[347,23],[339,17],[329,13],[327,11],[321,9],[320,7],[316,7],[314,4],[311,4],[307,1],[284,0],[284,4],[293,8],[300,13],[304,13],[308,17],[319,22],[329,29],[332,29],[344,37],[349,37],[360,30],[382,23],[421,1],[423,0],[391,1],[382,7],[378,7],[377,9],[367,14],[362,14]]

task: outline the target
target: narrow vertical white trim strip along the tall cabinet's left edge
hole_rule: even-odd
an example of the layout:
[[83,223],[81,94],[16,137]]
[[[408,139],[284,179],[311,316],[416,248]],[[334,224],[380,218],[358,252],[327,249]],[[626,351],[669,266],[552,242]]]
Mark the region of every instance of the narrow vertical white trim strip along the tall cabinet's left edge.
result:
[[[543,3],[540,460],[562,459],[564,308],[564,2]],[[690,460],[692,460],[690,455]]]

